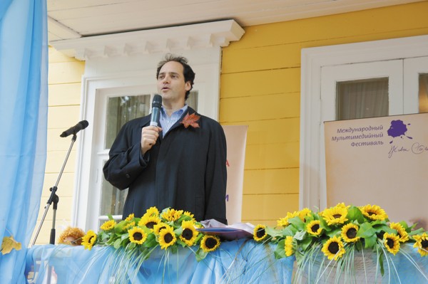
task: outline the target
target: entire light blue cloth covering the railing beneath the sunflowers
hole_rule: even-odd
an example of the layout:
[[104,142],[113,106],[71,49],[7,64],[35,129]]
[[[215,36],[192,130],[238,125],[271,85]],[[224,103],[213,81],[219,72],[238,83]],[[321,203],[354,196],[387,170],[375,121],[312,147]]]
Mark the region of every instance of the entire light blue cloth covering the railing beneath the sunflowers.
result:
[[[118,251],[111,247],[96,246],[88,251],[83,246],[33,246],[27,253],[26,275],[29,283],[51,284],[115,283],[114,280],[123,279],[121,273],[133,279],[132,283],[292,283],[295,258],[275,259],[275,246],[248,239],[225,241],[200,262],[189,248],[178,248],[177,253],[156,248],[139,270],[131,261],[127,262],[129,268],[115,267]],[[379,275],[377,256],[371,250],[364,253],[364,263],[361,257],[361,252],[355,254],[352,261],[355,270],[349,277],[337,273],[337,263],[327,261],[321,253],[307,263],[304,274],[297,273],[300,276],[294,281],[299,284],[428,283],[428,257],[419,256],[411,244],[403,245],[397,256],[385,255],[383,277]]]

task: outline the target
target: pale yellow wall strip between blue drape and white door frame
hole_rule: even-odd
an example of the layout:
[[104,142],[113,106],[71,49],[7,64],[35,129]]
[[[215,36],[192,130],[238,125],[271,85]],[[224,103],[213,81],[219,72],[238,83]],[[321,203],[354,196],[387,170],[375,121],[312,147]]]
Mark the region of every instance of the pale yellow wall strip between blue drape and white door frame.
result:
[[[49,47],[49,108],[48,108],[48,137],[47,159],[44,186],[41,196],[41,206],[36,229],[39,227],[45,211],[46,202],[51,196],[49,189],[56,184],[59,172],[63,166],[66,153],[71,145],[71,137],[61,138],[59,135],[68,127],[76,125],[80,117],[81,76],[85,63],[69,58]],[[78,138],[77,138],[78,139]],[[66,168],[58,183],[59,197],[56,211],[56,240],[63,228],[71,224],[71,208],[73,206],[74,171],[76,167],[76,150],[78,142],[74,143]],[[49,208],[46,219],[36,243],[49,243],[52,228],[53,205]],[[31,238],[33,241],[34,236]]]

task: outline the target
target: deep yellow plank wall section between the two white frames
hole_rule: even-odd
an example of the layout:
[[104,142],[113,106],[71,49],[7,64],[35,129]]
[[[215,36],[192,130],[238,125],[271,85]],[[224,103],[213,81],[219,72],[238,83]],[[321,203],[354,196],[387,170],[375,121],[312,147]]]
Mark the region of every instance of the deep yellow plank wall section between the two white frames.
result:
[[243,221],[299,206],[302,48],[428,34],[428,1],[245,28],[223,48],[220,123],[249,125]]

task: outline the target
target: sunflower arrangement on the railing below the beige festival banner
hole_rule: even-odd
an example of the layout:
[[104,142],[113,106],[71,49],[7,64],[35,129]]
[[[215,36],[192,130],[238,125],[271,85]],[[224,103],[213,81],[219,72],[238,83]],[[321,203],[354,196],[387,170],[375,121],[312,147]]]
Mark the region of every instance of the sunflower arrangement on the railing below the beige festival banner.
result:
[[[428,256],[428,234],[401,221],[389,222],[386,212],[377,205],[346,206],[337,204],[320,212],[302,209],[277,221],[276,227],[258,225],[255,241],[275,242],[276,258],[295,256],[297,282],[304,270],[314,267],[315,259],[322,265],[334,266],[336,275],[355,273],[356,252],[374,252],[376,267],[384,275],[384,259],[407,252],[404,243],[413,243],[420,256]],[[326,264],[327,263],[327,264]],[[414,262],[415,265],[416,262]],[[324,271],[317,271],[317,279]],[[427,278],[427,276],[424,276]],[[428,278],[427,278],[428,280]]]

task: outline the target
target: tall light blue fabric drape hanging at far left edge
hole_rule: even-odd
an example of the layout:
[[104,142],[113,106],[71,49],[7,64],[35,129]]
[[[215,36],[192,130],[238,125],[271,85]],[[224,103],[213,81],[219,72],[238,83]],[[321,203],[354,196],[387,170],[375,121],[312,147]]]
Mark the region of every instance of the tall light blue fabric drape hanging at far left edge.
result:
[[46,0],[0,4],[0,242],[21,251],[0,254],[0,283],[26,283],[26,247],[36,226],[46,164]]

